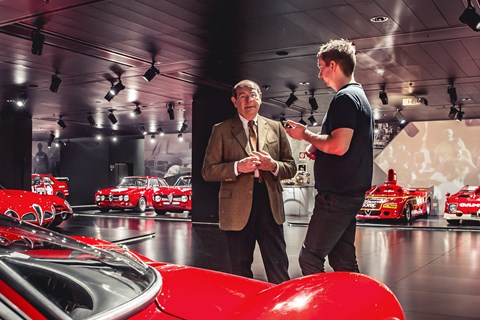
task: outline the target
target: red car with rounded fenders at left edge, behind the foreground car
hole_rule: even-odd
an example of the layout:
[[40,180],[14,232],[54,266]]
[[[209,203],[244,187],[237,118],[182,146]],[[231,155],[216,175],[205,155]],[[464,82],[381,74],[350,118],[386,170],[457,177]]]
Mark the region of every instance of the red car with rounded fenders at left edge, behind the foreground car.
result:
[[0,186],[0,214],[42,226],[57,226],[73,215],[67,200]]

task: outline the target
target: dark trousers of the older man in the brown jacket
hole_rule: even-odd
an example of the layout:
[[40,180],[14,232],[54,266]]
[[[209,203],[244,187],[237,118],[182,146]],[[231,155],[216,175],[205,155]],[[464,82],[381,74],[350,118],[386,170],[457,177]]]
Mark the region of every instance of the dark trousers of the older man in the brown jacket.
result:
[[232,273],[253,278],[252,262],[258,242],[267,279],[281,283],[290,279],[283,225],[273,219],[268,191],[264,183],[255,182],[252,211],[240,231],[226,231]]

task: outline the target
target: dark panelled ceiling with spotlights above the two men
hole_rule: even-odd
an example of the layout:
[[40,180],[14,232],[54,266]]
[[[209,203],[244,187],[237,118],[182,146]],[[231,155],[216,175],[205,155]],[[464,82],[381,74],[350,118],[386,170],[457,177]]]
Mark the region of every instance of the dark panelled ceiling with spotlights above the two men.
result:
[[[478,0],[472,2],[480,13]],[[189,131],[199,88],[230,90],[250,78],[269,87],[262,114],[307,118],[314,92],[321,119],[332,91],[317,78],[318,45],[347,38],[356,44],[356,80],[378,121],[395,121],[402,99],[412,97],[426,98],[428,106],[403,107],[408,121],[448,119],[451,81],[464,119],[480,118],[480,34],[458,19],[466,6],[466,0],[0,1],[0,106],[16,110],[11,101],[27,93],[34,140],[52,131],[64,139],[140,135],[140,126],[177,132],[185,119]],[[370,20],[377,16],[388,20]],[[31,53],[37,27],[45,37],[41,55]],[[152,59],[160,74],[146,82]],[[49,90],[55,73],[62,79],[56,93]],[[126,89],[109,102],[104,96],[119,77]],[[388,105],[378,97],[383,85]],[[286,108],[292,90],[299,100]],[[131,118],[136,105],[142,113]],[[57,125],[60,116],[65,129]]]

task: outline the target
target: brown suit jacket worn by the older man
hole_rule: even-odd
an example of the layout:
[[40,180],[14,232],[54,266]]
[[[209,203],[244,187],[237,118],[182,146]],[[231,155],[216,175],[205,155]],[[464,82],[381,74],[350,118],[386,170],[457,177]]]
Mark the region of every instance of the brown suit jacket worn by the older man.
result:
[[[273,217],[278,224],[282,224],[285,222],[285,210],[280,180],[295,175],[295,161],[280,122],[259,115],[257,126],[259,149],[268,152],[279,166],[277,176],[270,172],[260,172],[268,189]],[[234,163],[247,157],[250,152],[248,138],[238,115],[213,126],[203,161],[202,176],[205,181],[221,182],[218,198],[222,230],[242,230],[248,222],[252,208],[254,173],[236,176]]]

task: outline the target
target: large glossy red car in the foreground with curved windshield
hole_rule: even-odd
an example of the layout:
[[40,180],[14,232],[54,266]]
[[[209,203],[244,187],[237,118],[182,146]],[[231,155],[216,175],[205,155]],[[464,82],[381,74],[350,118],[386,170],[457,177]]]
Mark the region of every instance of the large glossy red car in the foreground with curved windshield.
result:
[[405,319],[394,294],[363,274],[274,285],[155,262],[126,246],[5,216],[0,292],[0,315],[8,319]]

